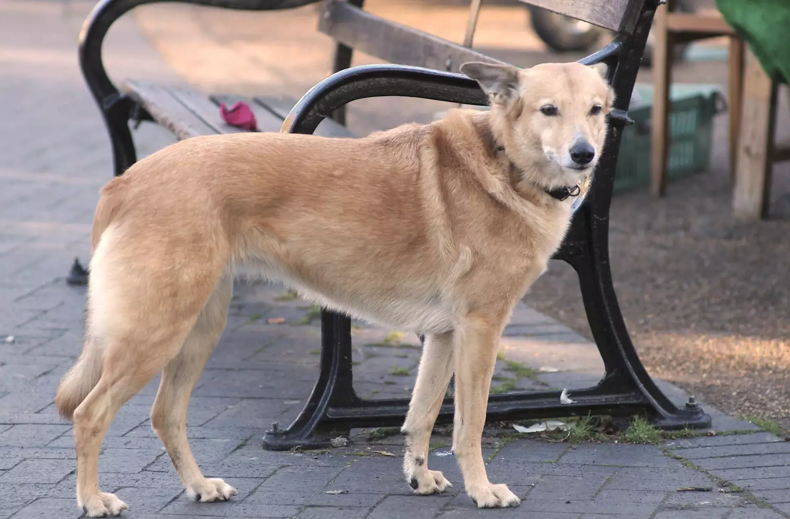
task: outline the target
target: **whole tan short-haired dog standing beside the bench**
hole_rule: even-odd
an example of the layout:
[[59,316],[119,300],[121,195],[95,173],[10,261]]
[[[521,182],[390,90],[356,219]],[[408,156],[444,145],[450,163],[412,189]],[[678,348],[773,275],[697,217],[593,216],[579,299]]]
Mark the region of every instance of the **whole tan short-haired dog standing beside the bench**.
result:
[[519,503],[488,481],[480,450],[498,341],[562,242],[573,199],[557,192],[592,172],[612,91],[604,65],[461,70],[490,96],[490,111],[451,110],[362,139],[196,137],[103,189],[85,347],[57,395],[74,423],[77,502],[89,517],[126,509],[99,491],[100,447],[115,413],[158,372],[151,424],[187,494],[203,502],[235,494],[198,469],[186,408],[239,271],[427,334],[403,426],[407,482],[417,494],[450,486],[428,469],[427,454],[454,372],[453,451],[466,491],[480,507]]

